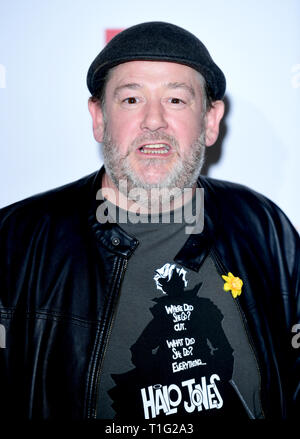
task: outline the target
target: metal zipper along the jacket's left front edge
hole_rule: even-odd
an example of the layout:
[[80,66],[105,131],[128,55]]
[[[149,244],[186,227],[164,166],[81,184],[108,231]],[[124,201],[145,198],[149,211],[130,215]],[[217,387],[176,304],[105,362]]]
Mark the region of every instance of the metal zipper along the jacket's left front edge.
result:
[[[123,259],[123,258],[122,258]],[[113,299],[113,312],[112,312],[112,316],[110,318],[110,322],[109,322],[109,326],[107,329],[107,334],[106,334],[106,338],[105,338],[105,346],[104,346],[104,350],[103,350],[103,354],[101,357],[101,360],[99,362],[99,366],[98,366],[98,370],[97,370],[97,374],[96,374],[96,379],[94,380],[94,384],[91,384],[91,387],[93,388],[93,392],[92,394],[95,395],[95,403],[94,403],[94,407],[91,407],[91,418],[96,419],[97,418],[97,406],[98,406],[98,391],[99,391],[99,385],[100,385],[100,377],[101,377],[101,371],[103,368],[103,363],[104,363],[104,358],[106,355],[106,351],[107,351],[107,347],[109,344],[109,339],[111,336],[111,331],[113,328],[113,324],[116,318],[116,311],[118,308],[118,302],[119,302],[119,298],[120,298],[120,290],[121,290],[121,284],[124,278],[124,274],[127,268],[127,264],[128,264],[128,260],[127,259],[123,259],[122,265],[121,267],[118,266],[118,269],[115,273],[115,279],[117,279],[118,276],[121,276],[120,279],[120,283],[119,283],[119,288],[118,290],[115,292],[115,296]],[[98,346],[97,346],[97,351],[99,352],[100,346],[99,346],[99,341],[98,341]]]

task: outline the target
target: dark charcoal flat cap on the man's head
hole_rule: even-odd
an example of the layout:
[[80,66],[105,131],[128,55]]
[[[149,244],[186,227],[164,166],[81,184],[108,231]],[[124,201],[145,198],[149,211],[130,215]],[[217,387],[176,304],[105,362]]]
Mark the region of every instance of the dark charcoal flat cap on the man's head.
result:
[[141,23],[117,34],[92,62],[87,86],[99,94],[107,71],[128,61],[170,61],[200,72],[206,80],[212,100],[222,99],[226,80],[204,44],[179,26],[161,21]]

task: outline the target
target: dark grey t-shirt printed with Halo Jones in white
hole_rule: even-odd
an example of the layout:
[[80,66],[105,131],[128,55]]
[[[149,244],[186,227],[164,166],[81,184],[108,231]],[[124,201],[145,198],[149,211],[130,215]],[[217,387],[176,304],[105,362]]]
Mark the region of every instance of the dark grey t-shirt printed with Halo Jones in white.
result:
[[185,224],[122,228],[139,246],[122,283],[97,417],[263,417],[256,358],[212,258],[199,272],[175,264]]

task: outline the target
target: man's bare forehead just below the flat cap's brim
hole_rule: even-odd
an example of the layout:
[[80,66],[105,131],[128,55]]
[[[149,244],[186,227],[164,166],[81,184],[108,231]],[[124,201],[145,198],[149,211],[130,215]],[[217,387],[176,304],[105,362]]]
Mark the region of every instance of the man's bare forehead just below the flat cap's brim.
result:
[[169,83],[186,83],[201,86],[201,75],[196,70],[183,64],[166,61],[130,61],[111,69],[107,87],[135,82],[141,86],[167,85]]

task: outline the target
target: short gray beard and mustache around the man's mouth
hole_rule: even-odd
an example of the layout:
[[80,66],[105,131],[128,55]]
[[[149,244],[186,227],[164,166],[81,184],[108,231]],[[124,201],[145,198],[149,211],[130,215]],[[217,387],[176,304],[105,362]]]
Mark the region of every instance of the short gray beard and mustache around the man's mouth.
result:
[[[129,153],[143,141],[151,142],[157,140],[165,140],[170,143],[171,146],[176,149],[176,151],[180,151],[178,142],[174,137],[165,133],[154,132],[147,133],[137,138],[131,145],[128,153],[125,156],[121,156],[118,145],[114,143],[112,136],[108,132],[107,126],[105,126],[102,142],[104,167],[114,185],[126,196],[128,192],[134,188],[142,188],[146,191],[150,191],[153,188],[168,190],[177,188],[182,192],[184,188],[193,187],[196,183],[204,164],[205,129],[202,129],[199,137],[192,144],[188,158],[179,158],[178,163],[174,166],[172,171],[159,183],[148,184],[139,178],[139,176],[132,169],[129,160]],[[149,158],[145,160],[149,166],[160,166],[160,161],[158,159]],[[123,185],[120,185],[121,181],[127,182],[126,193],[124,192]]]

